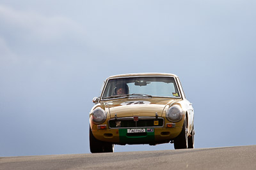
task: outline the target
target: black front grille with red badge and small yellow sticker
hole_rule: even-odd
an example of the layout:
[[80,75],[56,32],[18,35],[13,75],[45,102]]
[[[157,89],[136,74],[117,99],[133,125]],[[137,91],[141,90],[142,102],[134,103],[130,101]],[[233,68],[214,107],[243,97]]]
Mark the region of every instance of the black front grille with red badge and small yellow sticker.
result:
[[[154,121],[158,120],[158,125],[154,124]],[[120,125],[116,125],[118,122]],[[156,117],[139,117],[139,120],[135,122],[133,117],[130,118],[117,118],[109,120],[109,128],[125,128],[125,127],[163,127],[164,119]]]

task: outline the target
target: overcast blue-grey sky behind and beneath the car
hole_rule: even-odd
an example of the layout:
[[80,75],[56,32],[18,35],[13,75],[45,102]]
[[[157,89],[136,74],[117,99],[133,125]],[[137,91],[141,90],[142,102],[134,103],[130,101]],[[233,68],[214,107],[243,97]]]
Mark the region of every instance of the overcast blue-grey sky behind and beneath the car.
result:
[[180,77],[196,148],[255,145],[255,30],[253,0],[1,0],[0,157],[90,153],[102,81],[144,72]]

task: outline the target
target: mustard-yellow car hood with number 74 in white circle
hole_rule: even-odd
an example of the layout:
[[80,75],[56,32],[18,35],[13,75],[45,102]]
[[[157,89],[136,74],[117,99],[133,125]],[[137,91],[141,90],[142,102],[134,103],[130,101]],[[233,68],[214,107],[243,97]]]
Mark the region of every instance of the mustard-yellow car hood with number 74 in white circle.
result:
[[177,99],[129,98],[103,102],[102,104],[104,104],[105,110],[110,113],[111,118],[114,118],[115,115],[116,117],[154,117],[156,113],[162,117],[163,111],[175,101]]

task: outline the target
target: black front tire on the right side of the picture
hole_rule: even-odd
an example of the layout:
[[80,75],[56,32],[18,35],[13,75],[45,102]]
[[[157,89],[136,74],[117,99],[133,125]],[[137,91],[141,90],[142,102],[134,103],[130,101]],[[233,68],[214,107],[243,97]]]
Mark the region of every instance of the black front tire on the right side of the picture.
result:
[[188,127],[186,117],[184,118],[182,131],[180,132],[179,136],[174,139],[174,148],[175,150],[188,148]]

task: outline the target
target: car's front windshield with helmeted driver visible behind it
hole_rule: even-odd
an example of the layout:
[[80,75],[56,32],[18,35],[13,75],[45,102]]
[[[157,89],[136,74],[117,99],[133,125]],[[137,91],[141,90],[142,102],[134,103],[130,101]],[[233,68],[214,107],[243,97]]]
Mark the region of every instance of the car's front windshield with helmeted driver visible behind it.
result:
[[110,79],[102,99],[115,97],[180,97],[177,85],[170,76],[138,76]]

